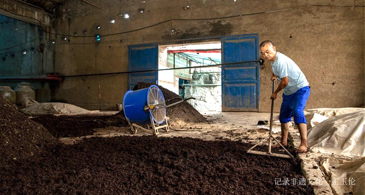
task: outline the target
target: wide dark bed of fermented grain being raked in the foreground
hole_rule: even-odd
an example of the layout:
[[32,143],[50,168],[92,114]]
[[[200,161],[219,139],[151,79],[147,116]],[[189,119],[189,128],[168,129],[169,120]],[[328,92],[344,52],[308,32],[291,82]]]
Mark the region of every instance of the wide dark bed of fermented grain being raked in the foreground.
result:
[[[246,154],[250,144],[156,136],[90,138],[1,168],[5,194],[312,194],[276,185],[298,159]],[[266,149],[266,148],[261,148]]]

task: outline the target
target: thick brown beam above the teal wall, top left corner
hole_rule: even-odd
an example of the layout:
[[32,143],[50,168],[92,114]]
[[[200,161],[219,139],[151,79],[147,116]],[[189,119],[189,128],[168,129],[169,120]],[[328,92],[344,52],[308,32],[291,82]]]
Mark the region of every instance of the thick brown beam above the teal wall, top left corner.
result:
[[50,15],[47,12],[14,0],[2,0],[0,14],[36,25],[41,23],[42,26],[50,26]]

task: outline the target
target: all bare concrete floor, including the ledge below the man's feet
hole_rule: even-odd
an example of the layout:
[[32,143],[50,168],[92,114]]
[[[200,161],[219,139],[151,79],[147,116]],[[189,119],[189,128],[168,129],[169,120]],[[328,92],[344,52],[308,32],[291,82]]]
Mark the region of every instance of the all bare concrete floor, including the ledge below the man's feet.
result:
[[[115,111],[91,112],[91,115],[112,115]],[[270,113],[258,112],[202,112],[208,120],[204,124],[170,124],[170,131],[160,131],[158,136],[186,136],[199,138],[203,140],[234,140],[245,143],[257,143],[260,139],[269,135],[269,125],[257,125],[259,120],[270,120]],[[273,121],[278,120],[278,113],[274,113]],[[138,130],[136,134],[130,134],[129,127],[108,127],[96,129],[94,135],[78,137],[78,138],[60,138],[59,140],[65,144],[73,144],[82,141],[84,138],[93,136],[110,137],[110,136],[142,136],[149,135],[142,130]],[[280,126],[273,126],[273,135],[280,140]],[[292,140],[293,148],[296,149],[300,144],[300,136],[298,130],[293,126],[289,129],[289,138]],[[267,144],[267,143],[264,143]],[[303,175],[307,180],[321,179],[325,181],[324,174],[319,168],[317,162],[322,158],[319,154],[308,152],[298,155],[302,159],[301,167]],[[315,194],[333,194],[328,183],[321,185],[313,185]]]

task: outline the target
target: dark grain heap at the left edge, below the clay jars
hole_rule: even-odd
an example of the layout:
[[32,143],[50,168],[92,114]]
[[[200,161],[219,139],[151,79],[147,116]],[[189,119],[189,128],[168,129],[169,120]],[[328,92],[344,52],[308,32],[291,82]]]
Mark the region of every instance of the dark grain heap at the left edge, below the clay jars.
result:
[[0,98],[0,165],[37,155],[55,143],[42,125]]

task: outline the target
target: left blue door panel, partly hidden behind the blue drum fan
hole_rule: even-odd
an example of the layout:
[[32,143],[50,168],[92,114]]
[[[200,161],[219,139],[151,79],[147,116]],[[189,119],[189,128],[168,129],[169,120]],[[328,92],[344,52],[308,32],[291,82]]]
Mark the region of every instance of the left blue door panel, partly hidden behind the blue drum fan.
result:
[[[130,45],[128,59],[128,71],[157,70],[158,44]],[[158,71],[129,73],[128,88],[133,89],[139,81],[157,83]]]

